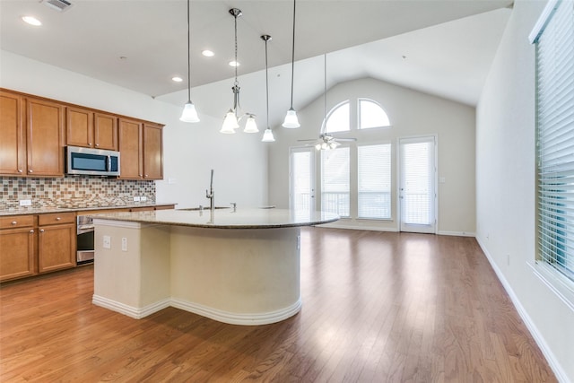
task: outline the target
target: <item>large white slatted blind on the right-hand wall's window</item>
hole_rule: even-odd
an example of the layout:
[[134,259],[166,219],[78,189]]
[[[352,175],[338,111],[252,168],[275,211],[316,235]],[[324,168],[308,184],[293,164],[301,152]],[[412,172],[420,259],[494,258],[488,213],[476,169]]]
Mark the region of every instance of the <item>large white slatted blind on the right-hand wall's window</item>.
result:
[[535,36],[538,258],[574,281],[574,2]]

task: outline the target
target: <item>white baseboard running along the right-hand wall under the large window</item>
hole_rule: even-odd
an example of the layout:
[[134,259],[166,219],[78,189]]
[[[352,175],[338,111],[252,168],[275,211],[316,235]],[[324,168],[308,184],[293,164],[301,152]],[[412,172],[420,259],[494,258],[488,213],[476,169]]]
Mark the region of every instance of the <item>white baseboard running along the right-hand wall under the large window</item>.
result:
[[504,290],[506,290],[506,292],[509,294],[512,304],[517,309],[520,318],[522,318],[524,321],[526,328],[528,328],[528,331],[530,332],[530,335],[532,335],[532,337],[535,339],[536,344],[538,344],[538,347],[540,347],[540,351],[544,353],[544,358],[546,358],[546,361],[548,361],[550,368],[554,372],[554,375],[556,375],[556,379],[558,379],[558,381],[561,383],[569,383],[570,379],[568,379],[566,372],[562,369],[561,364],[556,360],[554,353],[552,353],[552,349],[548,346],[548,344],[546,344],[544,336],[540,333],[540,331],[538,331],[538,327],[532,321],[532,318],[530,318],[526,312],[526,309],[520,303],[520,300],[518,300],[518,297],[514,290],[512,290],[509,281],[507,281],[499,266],[496,265],[496,262],[494,262],[494,258],[491,257],[488,249],[483,246],[483,242],[480,238],[476,237],[476,241],[483,250],[486,259],[488,259],[488,262],[491,264],[491,267],[494,270],[494,273],[496,273],[496,276],[499,278],[500,283],[502,283],[502,287],[504,287]]

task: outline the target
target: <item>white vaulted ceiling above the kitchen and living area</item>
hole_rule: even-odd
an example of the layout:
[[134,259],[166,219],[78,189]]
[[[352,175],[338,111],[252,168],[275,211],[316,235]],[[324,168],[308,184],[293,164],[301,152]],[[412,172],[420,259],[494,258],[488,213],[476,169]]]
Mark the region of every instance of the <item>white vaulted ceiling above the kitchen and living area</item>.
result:
[[[187,100],[185,0],[69,2],[70,7],[57,12],[45,1],[1,0],[0,48],[174,104]],[[329,86],[372,77],[475,105],[511,4],[509,0],[299,0],[296,108],[322,93],[325,53]],[[260,36],[269,34],[271,108],[273,115],[275,109],[281,115],[291,87],[292,1],[191,1],[191,83],[196,104],[207,113],[222,114],[209,110],[208,99],[230,103],[233,7],[243,13],[238,19],[242,103],[259,105],[265,93],[265,43]],[[43,25],[22,22],[28,14]],[[206,48],[214,57],[201,55]],[[172,82],[174,75],[184,82]]]

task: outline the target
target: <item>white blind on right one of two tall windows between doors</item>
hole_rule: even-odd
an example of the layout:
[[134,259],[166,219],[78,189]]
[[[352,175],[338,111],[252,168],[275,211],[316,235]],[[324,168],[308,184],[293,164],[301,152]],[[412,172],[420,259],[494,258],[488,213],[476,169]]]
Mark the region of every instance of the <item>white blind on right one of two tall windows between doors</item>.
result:
[[391,144],[357,148],[359,218],[391,218]]

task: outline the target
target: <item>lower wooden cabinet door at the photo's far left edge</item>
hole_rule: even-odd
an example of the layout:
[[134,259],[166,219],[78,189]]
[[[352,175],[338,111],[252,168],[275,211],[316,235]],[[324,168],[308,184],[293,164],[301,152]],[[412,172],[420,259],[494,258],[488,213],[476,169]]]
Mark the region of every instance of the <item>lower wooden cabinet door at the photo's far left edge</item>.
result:
[[31,227],[0,231],[0,281],[36,274],[35,235]]

